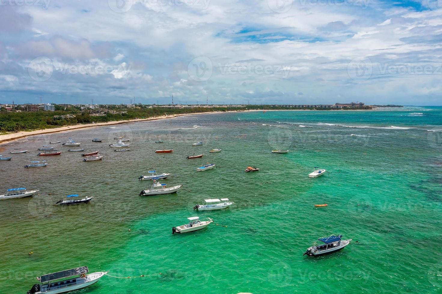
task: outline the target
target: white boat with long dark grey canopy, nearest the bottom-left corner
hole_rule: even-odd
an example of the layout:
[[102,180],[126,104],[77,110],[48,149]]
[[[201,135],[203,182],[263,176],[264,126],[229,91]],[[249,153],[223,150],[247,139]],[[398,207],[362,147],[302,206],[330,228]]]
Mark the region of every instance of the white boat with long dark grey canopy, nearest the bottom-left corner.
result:
[[37,278],[40,283],[34,284],[27,294],[58,294],[78,290],[97,283],[107,274],[107,271],[97,271],[87,275],[88,271],[88,267],[80,267],[42,275]]

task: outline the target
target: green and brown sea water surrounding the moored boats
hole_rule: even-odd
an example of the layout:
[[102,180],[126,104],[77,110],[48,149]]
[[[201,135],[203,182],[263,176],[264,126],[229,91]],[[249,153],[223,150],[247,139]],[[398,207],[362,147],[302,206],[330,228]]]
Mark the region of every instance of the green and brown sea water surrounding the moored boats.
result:
[[[116,136],[131,150],[114,152]],[[66,152],[76,148],[61,146],[69,137],[103,160]],[[38,158],[38,147],[58,140],[62,155]],[[0,201],[0,293],[26,293],[37,276],[79,266],[110,276],[73,294],[442,293],[441,107],[191,115],[31,136],[0,154],[18,148],[29,153],[0,162],[0,190],[40,192]],[[193,154],[204,157],[186,159]],[[38,159],[48,166],[23,167]],[[217,167],[195,170],[206,162]],[[259,172],[245,173],[251,165]],[[316,167],[327,173],[309,178]],[[151,169],[183,187],[139,196],[150,182],[138,177]],[[94,199],[55,204],[75,193]],[[193,210],[208,198],[235,204]],[[214,222],[171,234],[191,216]],[[302,255],[331,234],[353,241]]]

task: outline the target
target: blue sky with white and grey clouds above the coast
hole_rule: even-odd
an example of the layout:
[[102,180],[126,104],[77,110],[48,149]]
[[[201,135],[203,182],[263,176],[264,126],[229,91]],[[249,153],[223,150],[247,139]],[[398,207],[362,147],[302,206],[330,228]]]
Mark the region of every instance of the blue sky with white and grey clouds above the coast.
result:
[[0,0],[0,103],[442,105],[442,0]]

